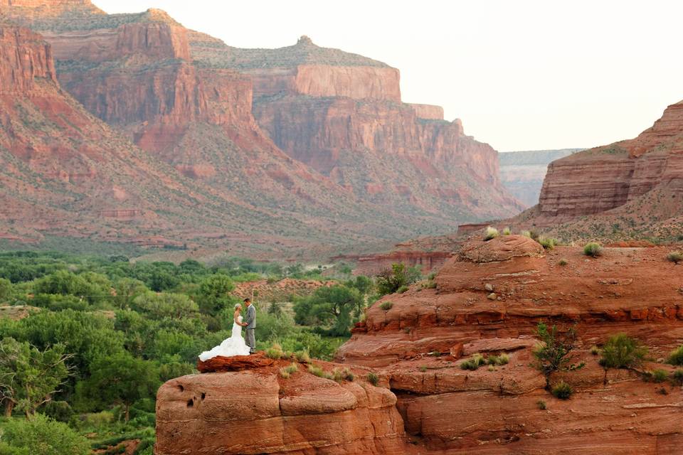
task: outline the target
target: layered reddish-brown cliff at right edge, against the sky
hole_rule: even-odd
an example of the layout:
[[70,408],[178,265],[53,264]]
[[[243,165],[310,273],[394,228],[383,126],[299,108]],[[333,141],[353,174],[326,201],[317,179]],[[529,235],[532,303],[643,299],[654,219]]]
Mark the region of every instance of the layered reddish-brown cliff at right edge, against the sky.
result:
[[683,102],[640,136],[573,154],[548,167],[539,213],[593,215],[632,203],[655,188],[683,192]]

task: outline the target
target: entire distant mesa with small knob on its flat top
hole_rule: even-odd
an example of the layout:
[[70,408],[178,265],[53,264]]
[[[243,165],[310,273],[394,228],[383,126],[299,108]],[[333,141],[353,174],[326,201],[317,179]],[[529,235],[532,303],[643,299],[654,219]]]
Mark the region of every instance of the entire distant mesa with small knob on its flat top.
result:
[[[280,49],[236,49],[191,33],[195,58],[254,80],[254,114],[287,154],[363,200],[408,213],[496,218],[504,195],[497,152],[445,122],[438,106],[401,103],[398,70],[307,37]],[[391,166],[387,163],[391,161]]]

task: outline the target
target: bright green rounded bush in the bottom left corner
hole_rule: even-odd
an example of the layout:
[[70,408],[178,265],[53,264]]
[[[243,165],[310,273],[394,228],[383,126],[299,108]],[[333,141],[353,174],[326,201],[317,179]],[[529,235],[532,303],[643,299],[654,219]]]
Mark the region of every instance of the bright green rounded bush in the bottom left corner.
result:
[[41,414],[36,414],[31,420],[11,419],[2,430],[0,454],[90,454],[88,439],[74,432],[67,424],[55,422]]

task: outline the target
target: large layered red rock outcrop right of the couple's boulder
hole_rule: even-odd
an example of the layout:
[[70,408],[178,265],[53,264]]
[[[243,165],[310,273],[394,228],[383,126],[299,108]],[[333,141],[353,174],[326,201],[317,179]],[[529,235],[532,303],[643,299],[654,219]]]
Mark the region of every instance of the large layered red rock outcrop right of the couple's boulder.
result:
[[[605,371],[589,353],[620,332],[645,343],[652,358],[678,346],[683,275],[666,262],[667,248],[608,248],[588,259],[573,247],[541,254],[507,236],[462,251],[438,274],[436,289],[386,296],[379,302],[392,302],[386,311],[372,306],[338,353],[339,361],[388,377],[406,432],[422,453],[675,453],[672,444],[683,441],[674,417],[680,387],[667,383],[662,395],[633,371]],[[586,366],[551,375],[551,382],[574,387],[566,402],[544,390],[544,376],[531,366],[539,321],[576,324],[575,361]],[[474,353],[506,353],[509,363],[462,370]]]

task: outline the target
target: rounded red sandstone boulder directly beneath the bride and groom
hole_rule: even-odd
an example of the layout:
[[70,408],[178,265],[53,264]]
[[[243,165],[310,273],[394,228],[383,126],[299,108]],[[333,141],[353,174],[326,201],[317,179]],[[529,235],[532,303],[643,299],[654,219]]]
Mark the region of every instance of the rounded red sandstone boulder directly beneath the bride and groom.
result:
[[245,356],[253,359],[248,370],[166,382],[155,454],[403,454],[403,420],[389,390],[318,378],[303,364],[284,379],[278,368],[290,362],[263,366],[258,357]]

